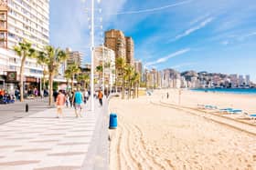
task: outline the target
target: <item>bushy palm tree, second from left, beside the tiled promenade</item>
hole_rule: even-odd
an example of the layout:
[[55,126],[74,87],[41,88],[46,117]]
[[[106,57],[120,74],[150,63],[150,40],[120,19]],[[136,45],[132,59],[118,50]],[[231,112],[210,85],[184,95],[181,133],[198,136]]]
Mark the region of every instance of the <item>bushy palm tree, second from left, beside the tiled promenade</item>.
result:
[[48,105],[52,104],[53,95],[53,78],[59,71],[59,65],[68,58],[68,55],[64,50],[60,48],[54,48],[51,45],[47,45],[43,52],[39,52],[37,55],[37,62],[39,64],[48,66],[49,75],[49,100]]

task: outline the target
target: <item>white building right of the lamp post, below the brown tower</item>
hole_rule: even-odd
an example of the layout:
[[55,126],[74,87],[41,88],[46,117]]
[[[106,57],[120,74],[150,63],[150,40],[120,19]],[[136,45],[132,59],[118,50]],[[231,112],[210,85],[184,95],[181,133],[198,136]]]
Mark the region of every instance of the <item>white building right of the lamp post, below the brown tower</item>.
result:
[[[96,67],[104,63],[104,80],[105,88],[111,89],[115,82],[115,53],[112,49],[106,46],[97,46],[94,49],[94,71],[95,77],[99,76],[96,73]],[[101,83],[103,79],[101,77]],[[98,86],[100,87],[100,86]],[[97,85],[96,85],[97,88]]]

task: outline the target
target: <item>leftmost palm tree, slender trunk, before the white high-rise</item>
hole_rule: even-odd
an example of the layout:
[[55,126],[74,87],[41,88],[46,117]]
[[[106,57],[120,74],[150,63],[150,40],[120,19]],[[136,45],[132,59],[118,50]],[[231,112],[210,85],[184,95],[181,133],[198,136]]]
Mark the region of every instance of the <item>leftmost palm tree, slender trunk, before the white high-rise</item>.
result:
[[23,95],[23,78],[24,78],[24,65],[26,62],[27,57],[36,57],[36,50],[31,47],[32,44],[27,42],[27,40],[23,40],[22,42],[18,43],[18,45],[14,46],[14,50],[16,52],[16,55],[20,56],[21,58],[21,64],[20,64],[20,70],[19,70],[19,88],[20,88],[20,101],[24,101],[24,95]]

